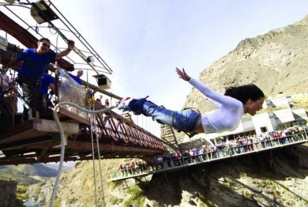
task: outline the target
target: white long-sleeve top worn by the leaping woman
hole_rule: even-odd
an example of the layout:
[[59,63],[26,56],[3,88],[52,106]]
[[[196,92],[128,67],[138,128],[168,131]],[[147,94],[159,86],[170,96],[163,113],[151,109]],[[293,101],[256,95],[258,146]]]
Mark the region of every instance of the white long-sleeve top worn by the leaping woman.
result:
[[202,126],[206,134],[235,130],[244,114],[243,104],[232,97],[212,90],[202,82],[191,78],[189,83],[203,93],[217,108],[209,114],[202,114]]

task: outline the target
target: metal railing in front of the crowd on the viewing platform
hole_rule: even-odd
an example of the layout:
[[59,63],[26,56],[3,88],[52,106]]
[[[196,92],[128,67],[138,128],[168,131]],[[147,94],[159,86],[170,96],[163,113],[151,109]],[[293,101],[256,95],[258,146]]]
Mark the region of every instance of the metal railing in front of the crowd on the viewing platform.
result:
[[135,168],[128,167],[124,170],[110,171],[107,173],[108,181],[115,181],[136,176],[143,176],[152,173],[173,170],[190,165],[202,164],[211,161],[218,161],[230,157],[243,156],[251,153],[266,151],[278,147],[285,147],[294,144],[308,142],[308,132],[299,133],[281,138],[271,138],[267,140],[252,142],[244,145],[217,149],[204,152],[198,155],[183,156],[177,159],[166,159],[163,162],[155,162],[146,166]]

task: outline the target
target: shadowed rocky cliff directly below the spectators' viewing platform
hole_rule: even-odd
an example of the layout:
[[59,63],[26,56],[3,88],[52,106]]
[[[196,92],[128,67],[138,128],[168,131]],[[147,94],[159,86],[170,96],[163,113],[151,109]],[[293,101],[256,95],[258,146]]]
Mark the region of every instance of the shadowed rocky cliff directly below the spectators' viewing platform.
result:
[[[307,206],[307,146],[153,176],[149,206]],[[164,190],[160,190],[164,189]]]

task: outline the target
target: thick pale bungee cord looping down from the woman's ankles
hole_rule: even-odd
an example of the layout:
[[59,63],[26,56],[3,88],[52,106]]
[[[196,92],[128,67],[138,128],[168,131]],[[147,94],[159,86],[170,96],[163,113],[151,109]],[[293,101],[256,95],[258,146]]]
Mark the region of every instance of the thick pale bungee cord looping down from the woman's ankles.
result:
[[56,121],[57,127],[58,127],[58,129],[60,131],[61,154],[60,154],[59,170],[58,170],[58,173],[57,173],[57,177],[56,177],[54,188],[52,190],[52,195],[51,195],[49,207],[53,207],[53,204],[54,204],[54,201],[55,201],[56,192],[57,192],[57,188],[58,188],[58,185],[59,185],[59,180],[60,180],[60,176],[61,176],[61,172],[62,172],[62,167],[63,167],[63,161],[64,161],[64,150],[65,150],[65,146],[64,146],[64,130],[63,130],[63,127],[62,127],[62,125],[60,123],[60,120],[59,120],[59,118],[57,116],[58,108],[60,108],[63,105],[71,105],[71,106],[74,106],[75,108],[77,108],[77,109],[79,109],[81,111],[84,111],[84,112],[90,113],[90,114],[103,113],[103,112],[105,112],[107,110],[111,110],[111,109],[116,107],[116,106],[110,106],[110,107],[107,107],[107,108],[104,108],[104,109],[101,109],[101,110],[92,111],[92,110],[88,110],[86,108],[83,108],[82,106],[80,106],[78,104],[74,104],[74,103],[70,103],[70,102],[61,102],[61,103],[56,105],[56,107],[54,108],[54,111],[53,111],[53,116],[54,116],[54,119]]

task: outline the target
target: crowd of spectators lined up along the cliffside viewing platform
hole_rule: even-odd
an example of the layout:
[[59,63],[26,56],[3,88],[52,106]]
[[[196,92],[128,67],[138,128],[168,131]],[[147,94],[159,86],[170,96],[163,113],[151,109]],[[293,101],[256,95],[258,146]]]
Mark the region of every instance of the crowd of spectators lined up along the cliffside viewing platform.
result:
[[295,127],[293,129],[268,132],[266,134],[238,137],[229,140],[221,138],[216,144],[203,145],[190,150],[183,150],[165,156],[149,158],[147,162],[120,165],[122,176],[129,176],[149,171],[172,168],[190,163],[202,162],[215,158],[232,156],[253,150],[274,147],[281,144],[308,139],[307,127]]

